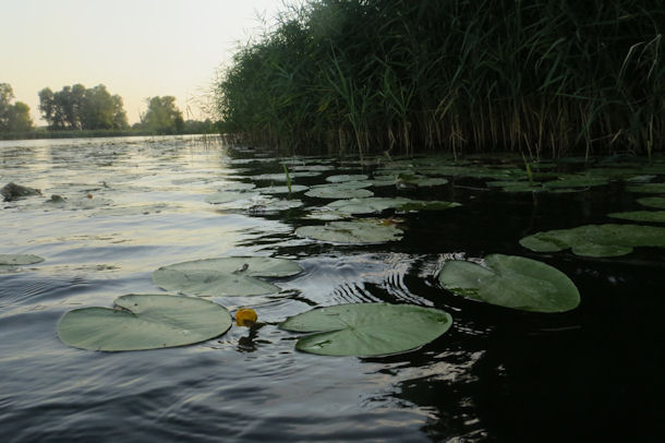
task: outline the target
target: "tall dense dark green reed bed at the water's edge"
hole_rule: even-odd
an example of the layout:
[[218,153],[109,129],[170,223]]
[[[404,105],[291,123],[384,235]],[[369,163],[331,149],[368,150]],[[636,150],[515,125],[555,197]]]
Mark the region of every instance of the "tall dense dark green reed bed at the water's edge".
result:
[[217,86],[240,141],[335,151],[646,153],[663,0],[310,0]]

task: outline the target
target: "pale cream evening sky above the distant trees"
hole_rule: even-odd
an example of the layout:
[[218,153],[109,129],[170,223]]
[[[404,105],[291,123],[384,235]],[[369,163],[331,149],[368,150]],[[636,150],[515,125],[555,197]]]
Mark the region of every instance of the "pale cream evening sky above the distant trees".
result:
[[146,98],[172,95],[186,119],[239,41],[275,22],[281,0],[0,0],[0,83],[40,119],[38,92],[106,85],[130,124]]

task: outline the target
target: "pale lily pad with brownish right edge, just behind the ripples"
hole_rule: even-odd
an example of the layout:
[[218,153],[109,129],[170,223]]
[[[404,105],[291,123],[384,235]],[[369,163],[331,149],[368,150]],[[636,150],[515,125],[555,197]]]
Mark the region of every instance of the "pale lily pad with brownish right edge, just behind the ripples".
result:
[[383,243],[401,239],[402,230],[377,219],[330,222],[324,226],[302,226],[295,235],[331,243]]

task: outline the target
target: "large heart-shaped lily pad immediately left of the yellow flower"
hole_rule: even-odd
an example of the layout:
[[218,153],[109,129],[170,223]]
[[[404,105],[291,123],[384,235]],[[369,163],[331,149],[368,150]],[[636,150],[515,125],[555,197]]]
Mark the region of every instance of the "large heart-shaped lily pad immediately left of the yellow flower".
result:
[[119,309],[83,308],[58,323],[60,339],[90,350],[141,350],[191,345],[220,336],[231,327],[226,308],[210,301],[167,295],[129,295]]

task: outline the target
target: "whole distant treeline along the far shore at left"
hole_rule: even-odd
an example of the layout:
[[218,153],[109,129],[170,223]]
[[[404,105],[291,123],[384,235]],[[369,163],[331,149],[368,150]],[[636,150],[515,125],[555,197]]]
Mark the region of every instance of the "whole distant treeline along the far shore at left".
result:
[[39,91],[39,110],[48,122],[46,129],[35,129],[29,107],[12,104],[11,85],[0,83],[0,139],[55,139],[78,136],[156,135],[213,133],[218,129],[206,121],[184,120],[176,106],[176,97],[149,97],[141,122],[131,128],[123,109],[122,97],[111,95],[105,85],[86,88],[82,84],[63,86],[53,93]]

